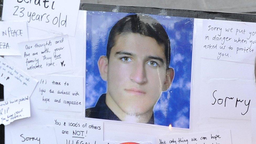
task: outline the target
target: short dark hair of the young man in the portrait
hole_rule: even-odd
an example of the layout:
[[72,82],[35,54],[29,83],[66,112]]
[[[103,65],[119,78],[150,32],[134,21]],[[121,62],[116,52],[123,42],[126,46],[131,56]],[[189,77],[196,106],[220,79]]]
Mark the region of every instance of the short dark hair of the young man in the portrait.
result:
[[164,55],[167,60],[167,69],[169,68],[171,51],[170,40],[165,29],[156,19],[148,15],[133,14],[127,15],[116,22],[116,24],[111,28],[108,36],[108,44],[106,48],[106,56],[108,59],[110,51],[115,45],[116,36],[121,33],[138,33],[154,38],[159,45],[163,44]]

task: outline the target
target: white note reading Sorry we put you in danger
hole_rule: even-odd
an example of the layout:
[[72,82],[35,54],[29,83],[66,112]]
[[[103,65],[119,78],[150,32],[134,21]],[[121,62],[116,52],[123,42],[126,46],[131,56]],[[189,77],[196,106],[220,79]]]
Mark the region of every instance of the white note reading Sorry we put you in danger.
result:
[[195,20],[201,57],[254,64],[256,24],[222,20]]

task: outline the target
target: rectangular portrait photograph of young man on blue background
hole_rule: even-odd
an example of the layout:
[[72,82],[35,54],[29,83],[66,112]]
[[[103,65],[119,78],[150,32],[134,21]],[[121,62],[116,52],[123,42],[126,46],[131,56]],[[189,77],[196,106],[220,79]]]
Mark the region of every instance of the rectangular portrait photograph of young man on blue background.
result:
[[193,25],[87,11],[86,118],[189,129]]

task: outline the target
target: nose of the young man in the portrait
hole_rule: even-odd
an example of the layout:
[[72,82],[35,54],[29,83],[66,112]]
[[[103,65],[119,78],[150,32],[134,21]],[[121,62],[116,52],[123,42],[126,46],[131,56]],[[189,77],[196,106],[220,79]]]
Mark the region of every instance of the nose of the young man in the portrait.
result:
[[130,75],[130,79],[138,84],[147,83],[147,74],[143,64],[137,64]]

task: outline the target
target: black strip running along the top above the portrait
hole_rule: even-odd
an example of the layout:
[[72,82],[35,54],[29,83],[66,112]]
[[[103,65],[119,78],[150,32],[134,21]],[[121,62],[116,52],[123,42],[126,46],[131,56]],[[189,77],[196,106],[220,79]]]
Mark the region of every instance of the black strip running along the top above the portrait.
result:
[[183,10],[183,9],[162,9],[162,8],[149,8],[149,7],[131,7],[131,6],[115,6],[105,4],[87,4],[80,3],[80,10],[91,11],[104,11],[104,12],[122,12],[122,13],[145,13],[156,15],[168,15],[175,17],[186,18],[202,18],[202,19],[215,19],[227,18],[228,20],[236,20],[242,22],[256,22],[255,14],[244,13],[223,13],[223,12],[206,12],[197,10]]

